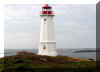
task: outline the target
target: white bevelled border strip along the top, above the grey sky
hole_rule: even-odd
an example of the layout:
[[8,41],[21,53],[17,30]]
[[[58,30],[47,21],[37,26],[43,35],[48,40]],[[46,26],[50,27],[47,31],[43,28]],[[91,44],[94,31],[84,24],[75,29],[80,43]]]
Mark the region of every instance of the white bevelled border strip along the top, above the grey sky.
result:
[[[5,4],[95,4],[100,0],[7,0]],[[3,1],[2,1],[3,2]]]

